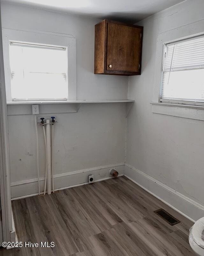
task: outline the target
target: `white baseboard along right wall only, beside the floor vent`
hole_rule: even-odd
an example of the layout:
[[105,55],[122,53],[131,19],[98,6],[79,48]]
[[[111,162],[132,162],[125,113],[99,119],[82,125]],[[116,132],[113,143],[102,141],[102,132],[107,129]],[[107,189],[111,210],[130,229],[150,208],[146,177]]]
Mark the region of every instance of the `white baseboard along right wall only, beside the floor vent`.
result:
[[189,220],[195,222],[204,216],[203,205],[129,164],[125,164],[125,176]]

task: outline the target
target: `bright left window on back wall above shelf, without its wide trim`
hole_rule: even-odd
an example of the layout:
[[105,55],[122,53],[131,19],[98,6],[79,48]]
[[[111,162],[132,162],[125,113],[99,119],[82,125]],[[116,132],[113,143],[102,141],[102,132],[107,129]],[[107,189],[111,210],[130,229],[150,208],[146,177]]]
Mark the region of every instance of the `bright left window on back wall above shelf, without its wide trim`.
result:
[[67,47],[9,42],[11,98],[67,100]]

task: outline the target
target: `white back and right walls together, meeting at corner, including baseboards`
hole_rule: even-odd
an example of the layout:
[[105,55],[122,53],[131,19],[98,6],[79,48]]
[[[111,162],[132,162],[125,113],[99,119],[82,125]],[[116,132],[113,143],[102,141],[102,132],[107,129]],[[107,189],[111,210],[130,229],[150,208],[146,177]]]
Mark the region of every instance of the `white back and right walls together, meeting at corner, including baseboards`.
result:
[[[192,219],[204,214],[204,123],[153,114],[149,103],[153,97],[157,35],[178,29],[179,37],[180,28],[199,20],[204,27],[203,9],[202,0],[187,0],[139,23],[144,26],[142,74],[129,77],[128,87],[128,98],[136,103],[127,122],[126,174]],[[3,28],[51,31],[76,37],[78,100],[126,99],[128,77],[93,74],[97,22],[77,15],[2,4]],[[102,166],[94,172],[97,179],[108,177],[109,166],[115,165],[123,173],[125,104],[83,104],[78,113],[55,115],[59,121],[54,140],[58,187],[85,182],[88,172],[75,176],[73,172],[78,170]],[[36,193],[33,116],[10,115],[8,119],[12,197]],[[40,127],[39,132],[40,177],[43,177],[45,154]],[[64,173],[73,175],[63,176]]]

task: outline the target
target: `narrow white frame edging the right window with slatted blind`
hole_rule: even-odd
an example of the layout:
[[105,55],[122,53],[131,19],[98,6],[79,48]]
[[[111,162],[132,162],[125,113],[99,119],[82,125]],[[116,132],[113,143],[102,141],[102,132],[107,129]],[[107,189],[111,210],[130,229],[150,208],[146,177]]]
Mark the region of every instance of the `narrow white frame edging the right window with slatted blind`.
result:
[[163,43],[163,52],[162,52],[162,65],[161,65],[161,77],[160,77],[160,85],[159,85],[159,100],[160,103],[172,103],[172,104],[182,104],[182,105],[194,105],[194,106],[204,106],[204,100],[173,100],[173,99],[162,99],[162,83],[163,83],[163,76],[164,76],[164,63],[167,53],[167,46],[172,44],[179,44],[179,42],[191,40],[192,38],[204,36],[204,33],[202,34],[196,34],[187,36],[185,38],[179,38],[176,40],[171,40],[170,42],[164,42]]

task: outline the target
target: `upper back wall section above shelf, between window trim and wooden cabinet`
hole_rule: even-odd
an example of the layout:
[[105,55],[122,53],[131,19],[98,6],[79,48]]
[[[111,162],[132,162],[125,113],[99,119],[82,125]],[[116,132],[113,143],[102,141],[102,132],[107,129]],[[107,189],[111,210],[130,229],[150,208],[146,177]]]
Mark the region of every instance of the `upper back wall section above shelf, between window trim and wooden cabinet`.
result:
[[2,27],[64,33],[76,38],[77,100],[127,98],[127,76],[94,75],[94,25],[100,20],[2,3]]

